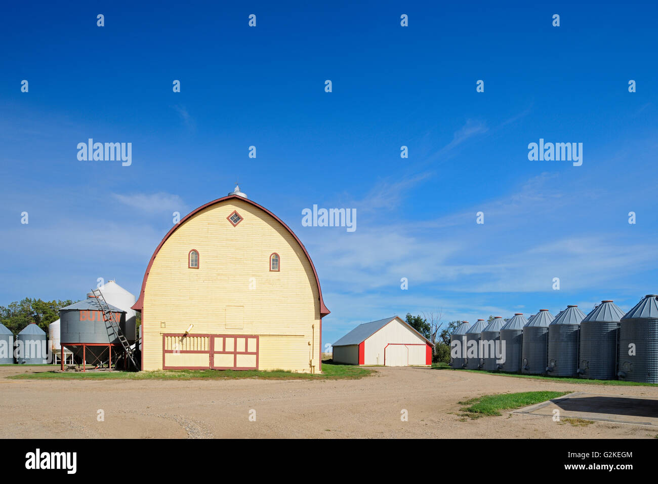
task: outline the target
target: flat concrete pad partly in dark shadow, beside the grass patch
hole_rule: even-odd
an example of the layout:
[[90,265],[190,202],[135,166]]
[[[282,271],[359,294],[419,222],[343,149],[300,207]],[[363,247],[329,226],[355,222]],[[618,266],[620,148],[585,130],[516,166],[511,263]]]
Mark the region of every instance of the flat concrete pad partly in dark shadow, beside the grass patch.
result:
[[650,396],[575,392],[510,413],[553,417],[556,408],[560,418],[658,426],[658,399]]

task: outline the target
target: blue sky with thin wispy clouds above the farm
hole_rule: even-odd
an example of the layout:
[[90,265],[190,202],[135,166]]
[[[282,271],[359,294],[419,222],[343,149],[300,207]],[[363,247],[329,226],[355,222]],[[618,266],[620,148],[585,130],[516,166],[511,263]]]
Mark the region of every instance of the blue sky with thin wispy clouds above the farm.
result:
[[[655,2],[3,9],[2,305],[97,277],[137,294],[172,212],[236,180],[313,257],[323,342],[407,311],[587,313],[658,291]],[[78,161],[88,138],[131,142],[132,165]],[[582,166],[529,161],[540,138],[581,142]],[[357,230],[302,227],[314,204],[357,209]]]

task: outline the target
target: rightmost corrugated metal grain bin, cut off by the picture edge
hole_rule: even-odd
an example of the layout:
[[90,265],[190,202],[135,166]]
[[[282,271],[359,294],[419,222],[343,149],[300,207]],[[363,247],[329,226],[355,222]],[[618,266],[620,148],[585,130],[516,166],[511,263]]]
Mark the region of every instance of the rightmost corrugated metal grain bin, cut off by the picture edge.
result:
[[658,296],[655,294],[644,296],[620,320],[617,375],[626,381],[658,383]]

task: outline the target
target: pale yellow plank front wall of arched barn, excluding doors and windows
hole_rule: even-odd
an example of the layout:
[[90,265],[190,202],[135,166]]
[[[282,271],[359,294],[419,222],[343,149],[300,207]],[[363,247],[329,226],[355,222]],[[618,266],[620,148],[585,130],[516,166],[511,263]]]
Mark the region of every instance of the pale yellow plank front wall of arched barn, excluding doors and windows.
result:
[[[236,227],[226,219],[234,210],[243,217]],[[199,252],[199,269],[188,269],[191,249]],[[272,252],[280,255],[280,271],[269,270]],[[173,232],[153,261],[143,369],[162,368],[163,334],[193,324],[191,335],[259,335],[259,369],[310,372],[313,360],[318,372],[318,298],[309,259],[274,217],[236,199],[211,205]],[[205,361],[199,358],[188,359]]]

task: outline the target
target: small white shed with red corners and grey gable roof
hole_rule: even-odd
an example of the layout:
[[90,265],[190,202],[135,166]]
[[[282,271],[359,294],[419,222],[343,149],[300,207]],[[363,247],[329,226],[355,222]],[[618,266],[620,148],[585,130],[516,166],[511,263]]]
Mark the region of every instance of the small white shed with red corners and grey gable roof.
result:
[[431,365],[432,344],[397,316],[355,327],[334,343],[334,362],[348,365]]

